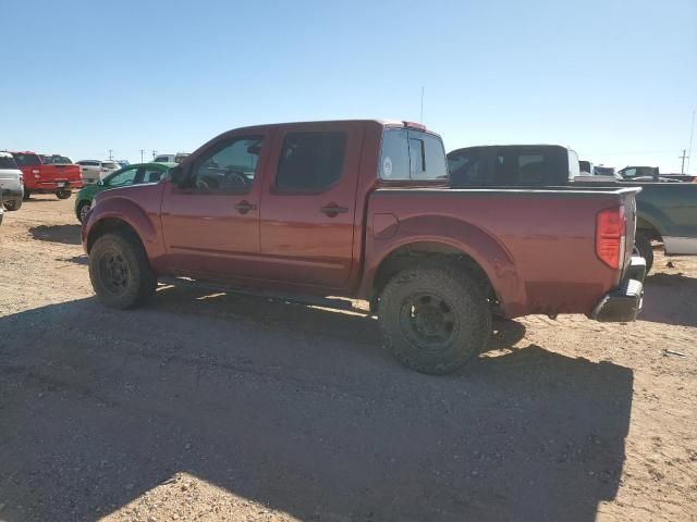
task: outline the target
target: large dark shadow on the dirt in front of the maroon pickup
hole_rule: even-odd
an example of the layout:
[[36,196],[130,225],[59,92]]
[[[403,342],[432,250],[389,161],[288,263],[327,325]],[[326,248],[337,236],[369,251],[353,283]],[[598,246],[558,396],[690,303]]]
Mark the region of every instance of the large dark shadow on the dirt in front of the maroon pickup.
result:
[[178,288],[0,331],[10,521],[96,520],[178,472],[318,521],[590,522],[619,487],[633,373],[616,364],[529,345],[432,377],[371,318]]

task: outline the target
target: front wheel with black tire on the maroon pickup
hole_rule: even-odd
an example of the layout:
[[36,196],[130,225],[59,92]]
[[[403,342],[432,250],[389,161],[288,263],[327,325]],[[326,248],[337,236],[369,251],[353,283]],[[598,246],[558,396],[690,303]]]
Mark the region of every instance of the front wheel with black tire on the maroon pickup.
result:
[[124,232],[97,238],[89,252],[89,279],[99,300],[119,310],[143,304],[157,287],[143,244]]

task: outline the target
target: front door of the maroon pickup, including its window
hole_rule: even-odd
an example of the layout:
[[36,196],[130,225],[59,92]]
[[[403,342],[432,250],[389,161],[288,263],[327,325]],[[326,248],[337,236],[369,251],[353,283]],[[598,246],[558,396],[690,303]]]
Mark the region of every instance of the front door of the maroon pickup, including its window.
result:
[[217,140],[163,187],[161,224],[170,270],[181,275],[254,277],[259,254],[264,133]]

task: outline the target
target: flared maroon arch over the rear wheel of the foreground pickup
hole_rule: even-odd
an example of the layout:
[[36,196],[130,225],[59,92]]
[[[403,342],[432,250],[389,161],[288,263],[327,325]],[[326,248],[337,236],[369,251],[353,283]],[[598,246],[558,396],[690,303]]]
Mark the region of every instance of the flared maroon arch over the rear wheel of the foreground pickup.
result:
[[481,285],[481,290],[489,299],[493,309],[498,308],[498,297],[489,276],[472,257],[450,245],[441,243],[413,243],[404,245],[382,260],[372,279],[370,294],[370,310],[376,311],[378,299],[388,282],[399,272],[424,261],[442,262],[455,265],[466,272],[474,281]]

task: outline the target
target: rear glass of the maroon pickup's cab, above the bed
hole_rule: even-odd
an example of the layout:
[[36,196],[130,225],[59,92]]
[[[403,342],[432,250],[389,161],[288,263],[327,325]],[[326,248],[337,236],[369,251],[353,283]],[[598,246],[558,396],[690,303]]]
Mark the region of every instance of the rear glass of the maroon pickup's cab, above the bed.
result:
[[443,142],[420,130],[388,128],[382,134],[379,174],[386,181],[448,179]]

